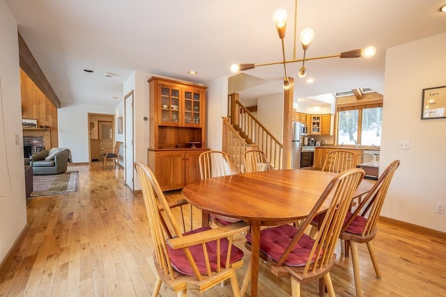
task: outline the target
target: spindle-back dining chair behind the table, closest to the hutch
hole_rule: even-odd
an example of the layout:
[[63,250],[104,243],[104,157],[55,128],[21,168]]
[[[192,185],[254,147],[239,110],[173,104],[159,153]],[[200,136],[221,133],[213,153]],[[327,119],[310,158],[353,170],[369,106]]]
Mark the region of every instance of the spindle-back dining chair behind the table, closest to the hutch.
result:
[[[227,175],[235,175],[236,171],[233,170],[231,163],[229,162],[228,155],[220,150],[209,150],[202,152],[198,158],[200,177],[201,179],[208,179],[212,177],[222,177]],[[222,198],[224,193],[222,193]],[[221,216],[217,214],[210,214],[210,222],[216,225],[226,225],[228,223],[234,223],[240,219],[230,218],[229,216]]]

